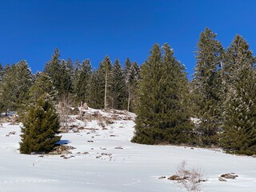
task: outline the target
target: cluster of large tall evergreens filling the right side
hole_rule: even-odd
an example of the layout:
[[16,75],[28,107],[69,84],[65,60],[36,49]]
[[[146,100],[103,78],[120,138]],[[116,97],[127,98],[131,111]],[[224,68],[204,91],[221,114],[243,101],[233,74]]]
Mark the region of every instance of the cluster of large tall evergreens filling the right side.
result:
[[213,31],[200,34],[194,78],[167,44],[141,67],[133,142],[222,146],[256,154],[256,58],[241,35],[225,50]]

